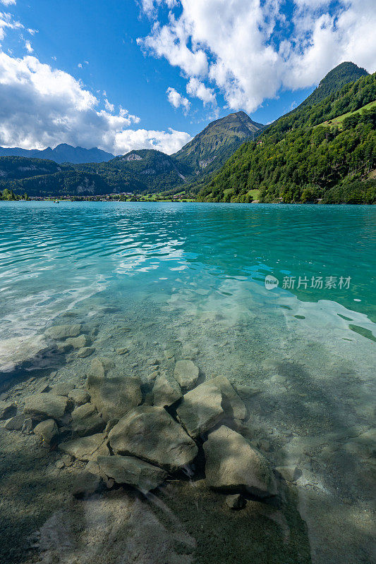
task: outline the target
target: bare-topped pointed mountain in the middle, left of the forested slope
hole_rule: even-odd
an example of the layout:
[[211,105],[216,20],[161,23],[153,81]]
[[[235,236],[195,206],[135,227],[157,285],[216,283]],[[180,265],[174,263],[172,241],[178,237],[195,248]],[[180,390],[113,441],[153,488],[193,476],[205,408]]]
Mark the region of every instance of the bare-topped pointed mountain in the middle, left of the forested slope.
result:
[[265,125],[252,121],[243,111],[212,121],[180,151],[172,155],[198,175],[218,169],[245,141],[260,135]]

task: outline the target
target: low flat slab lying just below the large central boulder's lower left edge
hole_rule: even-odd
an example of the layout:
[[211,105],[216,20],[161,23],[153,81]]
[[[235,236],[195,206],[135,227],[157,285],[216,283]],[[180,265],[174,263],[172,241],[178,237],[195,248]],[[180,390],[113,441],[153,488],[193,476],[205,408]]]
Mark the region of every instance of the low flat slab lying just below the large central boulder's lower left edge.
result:
[[129,484],[150,491],[164,482],[167,472],[133,456],[98,456],[100,470],[116,484]]

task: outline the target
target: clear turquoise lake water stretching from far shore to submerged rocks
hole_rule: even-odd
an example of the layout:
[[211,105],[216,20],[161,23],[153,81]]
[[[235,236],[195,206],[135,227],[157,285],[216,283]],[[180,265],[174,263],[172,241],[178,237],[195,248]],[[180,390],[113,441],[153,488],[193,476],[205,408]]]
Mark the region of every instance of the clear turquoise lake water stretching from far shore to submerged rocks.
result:
[[167,349],[255,386],[255,441],[299,467],[313,561],[370,561],[375,207],[0,202],[0,227],[1,340],[77,320],[141,379]]

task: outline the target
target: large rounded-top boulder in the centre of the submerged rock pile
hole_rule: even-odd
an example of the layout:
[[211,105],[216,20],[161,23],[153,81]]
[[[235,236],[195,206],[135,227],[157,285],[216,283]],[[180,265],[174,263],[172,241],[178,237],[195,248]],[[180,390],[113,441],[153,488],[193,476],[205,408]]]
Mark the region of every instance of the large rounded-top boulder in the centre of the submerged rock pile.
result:
[[189,465],[198,454],[195,442],[163,407],[141,405],[111,429],[116,454],[133,455],[166,470]]

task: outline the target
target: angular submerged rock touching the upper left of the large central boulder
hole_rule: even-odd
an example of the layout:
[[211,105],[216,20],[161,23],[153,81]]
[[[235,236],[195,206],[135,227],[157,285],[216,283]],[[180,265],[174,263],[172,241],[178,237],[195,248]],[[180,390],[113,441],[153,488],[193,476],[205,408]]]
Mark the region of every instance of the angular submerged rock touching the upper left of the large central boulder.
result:
[[89,374],[86,381],[91,401],[105,422],[121,419],[128,411],[140,405],[140,380],[133,376],[107,377]]

